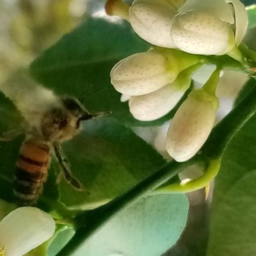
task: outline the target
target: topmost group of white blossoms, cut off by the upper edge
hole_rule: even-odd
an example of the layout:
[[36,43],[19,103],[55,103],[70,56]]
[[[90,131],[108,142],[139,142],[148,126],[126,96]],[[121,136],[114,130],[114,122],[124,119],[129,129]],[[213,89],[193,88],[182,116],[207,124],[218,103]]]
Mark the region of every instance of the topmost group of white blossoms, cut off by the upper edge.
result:
[[134,0],[130,7],[121,2],[109,0],[107,12],[128,19],[141,38],[193,54],[234,54],[248,25],[239,0]]

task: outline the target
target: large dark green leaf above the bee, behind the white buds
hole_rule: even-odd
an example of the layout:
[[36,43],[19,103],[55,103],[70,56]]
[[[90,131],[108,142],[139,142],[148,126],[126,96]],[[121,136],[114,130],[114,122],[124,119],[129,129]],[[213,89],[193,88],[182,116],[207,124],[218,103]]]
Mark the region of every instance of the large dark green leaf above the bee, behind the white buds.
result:
[[84,104],[92,112],[112,111],[113,116],[127,125],[159,125],[170,119],[170,115],[154,122],[134,119],[127,102],[120,102],[121,95],[109,77],[118,61],[149,47],[127,22],[114,24],[88,19],[33,61],[30,72],[54,92],[80,99],[87,95]]

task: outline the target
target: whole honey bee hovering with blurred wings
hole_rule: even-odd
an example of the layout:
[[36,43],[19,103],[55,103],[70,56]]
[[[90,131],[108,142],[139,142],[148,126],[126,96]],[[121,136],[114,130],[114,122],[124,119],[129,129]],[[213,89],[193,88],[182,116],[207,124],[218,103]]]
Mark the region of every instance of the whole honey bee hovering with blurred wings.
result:
[[[91,115],[75,97],[56,97],[42,86],[32,88],[33,92],[30,96],[26,95],[29,86],[23,89],[16,90],[16,94],[10,89],[2,88],[2,92],[13,100],[26,120],[24,128],[26,138],[20,148],[13,180],[13,192],[17,204],[35,204],[47,180],[52,152],[58,159],[60,175],[74,188],[83,190],[82,184],[70,171],[68,161],[61,150],[61,142],[71,140],[79,134],[82,121],[106,113]],[[22,99],[19,99],[19,92],[23,96]],[[35,95],[37,102],[31,107],[29,104],[35,100],[32,99]],[[26,111],[28,106],[30,111]],[[38,111],[31,111],[38,106],[41,107]]]

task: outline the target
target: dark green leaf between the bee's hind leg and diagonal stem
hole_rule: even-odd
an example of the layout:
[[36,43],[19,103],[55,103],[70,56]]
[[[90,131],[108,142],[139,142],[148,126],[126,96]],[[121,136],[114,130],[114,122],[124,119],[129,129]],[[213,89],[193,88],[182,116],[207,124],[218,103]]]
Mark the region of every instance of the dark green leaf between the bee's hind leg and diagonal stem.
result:
[[60,184],[67,207],[91,209],[121,195],[156,172],[166,161],[131,129],[111,118],[84,122],[81,136],[63,143],[74,175],[86,191]]

